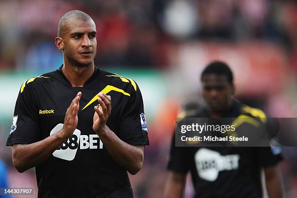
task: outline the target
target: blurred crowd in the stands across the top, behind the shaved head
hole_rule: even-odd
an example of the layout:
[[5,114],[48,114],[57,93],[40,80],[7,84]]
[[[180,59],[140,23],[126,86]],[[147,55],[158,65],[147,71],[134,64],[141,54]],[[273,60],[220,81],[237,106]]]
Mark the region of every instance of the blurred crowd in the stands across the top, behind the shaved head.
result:
[[294,0],[1,0],[0,68],[55,68],[57,21],[71,9],[95,19],[97,65],[170,67],[182,42],[261,39],[283,45],[297,72]]

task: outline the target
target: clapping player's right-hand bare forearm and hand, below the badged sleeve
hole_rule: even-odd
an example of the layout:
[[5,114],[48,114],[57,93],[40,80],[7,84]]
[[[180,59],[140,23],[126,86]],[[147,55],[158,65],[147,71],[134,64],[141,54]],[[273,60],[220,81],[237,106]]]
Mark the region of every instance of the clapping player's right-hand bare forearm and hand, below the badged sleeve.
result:
[[93,129],[100,137],[104,147],[111,157],[120,166],[126,168],[132,175],[136,174],[143,165],[143,146],[130,145],[106,126],[106,121],[111,113],[111,97],[99,94],[100,109],[95,108]]

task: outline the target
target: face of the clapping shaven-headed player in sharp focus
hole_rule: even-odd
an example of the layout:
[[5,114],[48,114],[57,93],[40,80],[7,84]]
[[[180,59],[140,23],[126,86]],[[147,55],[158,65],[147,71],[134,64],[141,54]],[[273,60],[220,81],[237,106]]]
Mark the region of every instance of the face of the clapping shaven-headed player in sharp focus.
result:
[[92,20],[72,19],[65,24],[62,39],[64,59],[83,67],[93,62],[96,56],[96,26]]

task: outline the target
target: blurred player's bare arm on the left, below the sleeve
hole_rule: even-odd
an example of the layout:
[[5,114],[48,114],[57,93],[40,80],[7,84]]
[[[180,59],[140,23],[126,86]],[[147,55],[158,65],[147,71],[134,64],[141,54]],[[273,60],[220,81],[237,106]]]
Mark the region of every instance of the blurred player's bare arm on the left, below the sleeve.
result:
[[182,198],[186,174],[169,172],[165,183],[165,198]]

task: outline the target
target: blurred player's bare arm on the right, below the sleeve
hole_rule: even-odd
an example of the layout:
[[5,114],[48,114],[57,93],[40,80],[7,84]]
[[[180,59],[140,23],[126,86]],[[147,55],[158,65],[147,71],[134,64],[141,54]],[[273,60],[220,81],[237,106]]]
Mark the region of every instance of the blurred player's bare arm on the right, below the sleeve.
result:
[[269,198],[282,198],[281,173],[278,165],[264,168],[264,174]]

